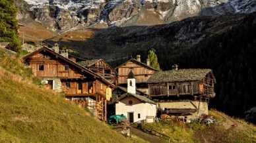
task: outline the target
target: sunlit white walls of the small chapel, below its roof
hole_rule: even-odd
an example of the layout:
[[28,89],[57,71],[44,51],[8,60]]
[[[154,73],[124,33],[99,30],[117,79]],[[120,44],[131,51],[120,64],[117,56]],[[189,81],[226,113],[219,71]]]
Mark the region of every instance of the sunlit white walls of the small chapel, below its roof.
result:
[[[133,101],[132,105],[129,104],[129,100]],[[146,116],[156,117],[156,105],[143,103],[137,98],[129,96],[115,104],[115,115],[123,114],[128,117],[128,112],[133,112],[133,121],[137,122],[146,119]],[[138,119],[138,113],[141,114],[140,119]]]

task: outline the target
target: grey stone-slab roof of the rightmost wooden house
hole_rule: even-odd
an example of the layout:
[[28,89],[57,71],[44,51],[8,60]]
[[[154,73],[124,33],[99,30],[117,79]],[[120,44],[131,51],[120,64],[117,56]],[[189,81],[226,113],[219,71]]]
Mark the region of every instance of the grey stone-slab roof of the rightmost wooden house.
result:
[[210,72],[212,72],[210,69],[180,69],[160,71],[154,73],[154,75],[151,75],[148,79],[148,83],[200,81]]

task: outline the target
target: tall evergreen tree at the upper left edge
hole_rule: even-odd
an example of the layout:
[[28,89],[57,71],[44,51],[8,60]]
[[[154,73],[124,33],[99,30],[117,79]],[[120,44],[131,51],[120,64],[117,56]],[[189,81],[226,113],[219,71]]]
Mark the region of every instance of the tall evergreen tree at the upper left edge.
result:
[[13,51],[20,51],[17,9],[14,0],[0,0],[0,42],[9,42]]

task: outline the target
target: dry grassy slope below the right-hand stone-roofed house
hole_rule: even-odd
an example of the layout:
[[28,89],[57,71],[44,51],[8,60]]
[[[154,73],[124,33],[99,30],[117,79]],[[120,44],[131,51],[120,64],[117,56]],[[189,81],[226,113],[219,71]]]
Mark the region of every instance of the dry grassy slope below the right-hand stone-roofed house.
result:
[[[211,110],[219,125],[203,125],[201,123],[183,124],[176,121],[148,124],[148,128],[170,136],[171,142],[256,142],[256,127],[242,119],[229,117],[225,113]],[[166,140],[166,142],[168,142]]]

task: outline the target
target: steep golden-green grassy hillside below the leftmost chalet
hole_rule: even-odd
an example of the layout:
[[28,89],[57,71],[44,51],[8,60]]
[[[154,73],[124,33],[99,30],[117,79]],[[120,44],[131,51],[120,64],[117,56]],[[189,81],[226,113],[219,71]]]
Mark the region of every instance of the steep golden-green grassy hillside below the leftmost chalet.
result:
[[30,70],[0,49],[0,142],[141,142],[127,139],[62,94],[40,88]]

